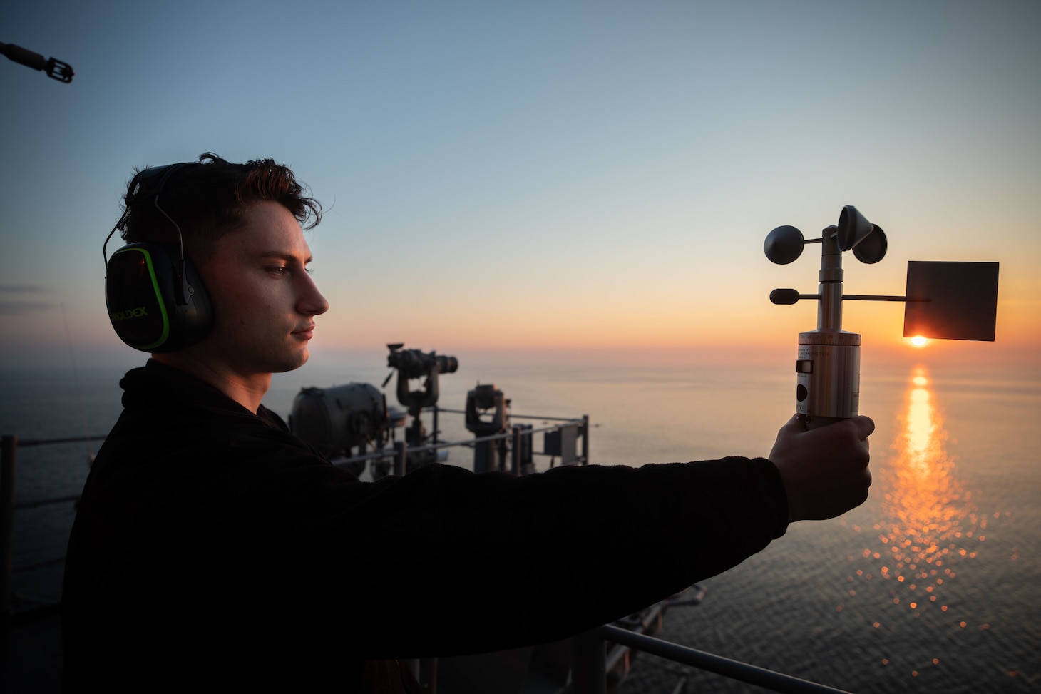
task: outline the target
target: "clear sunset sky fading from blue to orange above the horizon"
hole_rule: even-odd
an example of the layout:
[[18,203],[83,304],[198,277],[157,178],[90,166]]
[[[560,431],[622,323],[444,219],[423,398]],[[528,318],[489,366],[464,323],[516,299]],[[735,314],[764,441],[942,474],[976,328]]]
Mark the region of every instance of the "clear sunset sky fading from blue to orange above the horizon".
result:
[[[856,205],[908,261],[1000,263],[997,341],[1041,354],[1041,3],[29,2],[0,42],[0,356],[139,355],[104,307],[102,242],[134,167],[271,156],[325,206],[316,356],[387,342],[667,355],[780,349],[816,326],[819,238]],[[111,247],[109,248],[111,250]],[[853,303],[865,349],[914,348]],[[786,352],[787,353],[787,352]]]

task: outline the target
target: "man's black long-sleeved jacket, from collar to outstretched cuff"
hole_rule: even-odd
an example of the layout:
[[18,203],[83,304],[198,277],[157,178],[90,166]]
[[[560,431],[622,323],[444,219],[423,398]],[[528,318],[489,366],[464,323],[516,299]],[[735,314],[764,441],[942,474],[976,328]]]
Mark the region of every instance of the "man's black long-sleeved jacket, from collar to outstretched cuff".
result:
[[357,691],[366,661],[626,616],[787,527],[763,458],[526,477],[430,465],[361,482],[264,407],[177,370],[149,362],[121,386],[69,542],[69,691]]

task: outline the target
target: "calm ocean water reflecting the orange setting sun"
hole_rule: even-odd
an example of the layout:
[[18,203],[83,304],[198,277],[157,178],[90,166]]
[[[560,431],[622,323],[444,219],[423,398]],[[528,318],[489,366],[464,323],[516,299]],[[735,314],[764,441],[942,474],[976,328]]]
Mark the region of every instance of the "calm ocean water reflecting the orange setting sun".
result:
[[[599,464],[765,455],[793,411],[793,374],[776,365],[459,357],[459,371],[440,378],[441,406],[461,410],[467,390],[492,382],[514,415],[587,414]],[[121,408],[120,372],[0,372],[0,432],[106,432]],[[302,387],[379,386],[386,375],[379,360],[308,365],[276,375],[265,404],[286,416]],[[705,581],[705,601],[671,610],[659,636],[852,692],[1041,691],[1041,374],[866,364],[861,390],[861,412],[877,424],[868,501],[793,524]],[[472,436],[458,416],[442,415],[440,429],[445,440]],[[20,450],[17,500],[76,494],[99,445]],[[469,454],[449,462],[468,466]],[[60,556],[72,514],[71,503],[20,511],[16,567]],[[654,571],[638,548],[619,548],[618,561]],[[57,569],[19,571],[15,589],[26,600],[56,598]],[[623,691],[670,691],[679,669],[639,655]],[[690,676],[688,691],[762,691]]]

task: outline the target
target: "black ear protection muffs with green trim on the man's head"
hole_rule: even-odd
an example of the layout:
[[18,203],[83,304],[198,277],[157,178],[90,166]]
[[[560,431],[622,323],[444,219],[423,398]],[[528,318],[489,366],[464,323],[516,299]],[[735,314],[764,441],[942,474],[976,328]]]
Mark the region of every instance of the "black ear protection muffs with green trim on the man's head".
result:
[[[131,195],[145,195],[154,184],[152,204],[177,229],[179,246],[149,242],[132,243],[107,256],[108,240],[130,215],[126,212],[105,238],[105,305],[120,339],[143,352],[172,352],[206,337],[213,325],[213,311],[199,273],[184,257],[184,237],[177,222],[159,206],[159,196],[178,169],[199,166],[195,162],[145,169],[130,181]],[[129,196],[128,196],[129,197]]]

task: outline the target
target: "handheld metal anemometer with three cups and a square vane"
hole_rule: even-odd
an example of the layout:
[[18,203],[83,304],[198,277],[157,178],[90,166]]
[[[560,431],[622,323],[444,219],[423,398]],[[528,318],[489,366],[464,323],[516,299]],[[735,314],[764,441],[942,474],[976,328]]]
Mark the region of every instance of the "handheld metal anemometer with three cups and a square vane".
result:
[[889,243],[882,227],[853,205],[838,224],[824,227],[820,239],[806,239],[794,226],[779,226],[766,236],[763,251],[771,263],[788,265],[807,244],[820,244],[816,294],[776,289],[770,301],[792,304],[817,300],[817,329],[798,333],[795,361],[795,412],[810,427],[856,417],[860,408],[861,336],[842,329],[842,301],[903,301],[904,336],[948,340],[994,340],[997,316],[997,263],[908,263],[904,296],[842,293],[842,253],[853,251],[873,265],[886,256]]

